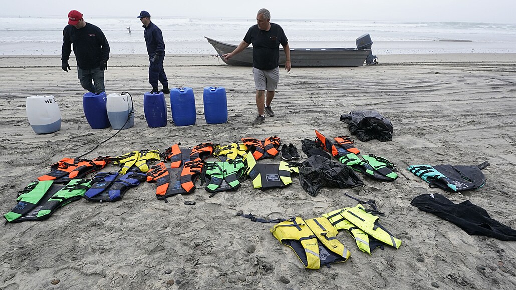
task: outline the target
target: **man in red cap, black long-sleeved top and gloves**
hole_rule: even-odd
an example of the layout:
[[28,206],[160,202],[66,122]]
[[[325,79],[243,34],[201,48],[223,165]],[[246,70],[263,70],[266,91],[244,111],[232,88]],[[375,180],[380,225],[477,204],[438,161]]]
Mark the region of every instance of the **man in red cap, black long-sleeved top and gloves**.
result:
[[105,92],[104,71],[107,70],[109,44],[102,30],[86,23],[83,14],[77,10],[68,13],[68,25],[63,29],[61,69],[66,72],[70,70],[68,60],[72,43],[80,85],[92,93]]

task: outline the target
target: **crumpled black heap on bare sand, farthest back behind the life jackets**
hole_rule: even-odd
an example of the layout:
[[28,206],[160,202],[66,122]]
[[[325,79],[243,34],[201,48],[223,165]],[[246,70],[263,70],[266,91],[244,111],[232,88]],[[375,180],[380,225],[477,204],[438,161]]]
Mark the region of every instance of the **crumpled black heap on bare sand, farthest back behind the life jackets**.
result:
[[360,141],[392,141],[391,121],[375,110],[350,111],[349,114],[341,115],[341,121],[348,124],[349,132]]

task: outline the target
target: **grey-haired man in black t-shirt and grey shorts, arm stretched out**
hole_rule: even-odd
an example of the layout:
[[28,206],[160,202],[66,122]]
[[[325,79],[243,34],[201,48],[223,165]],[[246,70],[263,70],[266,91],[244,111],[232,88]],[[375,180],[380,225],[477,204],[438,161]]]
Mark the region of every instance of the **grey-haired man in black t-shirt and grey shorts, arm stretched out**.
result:
[[[253,44],[253,75],[258,108],[258,116],[252,122],[253,125],[259,125],[265,121],[264,112],[270,117],[274,116],[270,103],[280,80],[280,44],[286,56],[285,70],[289,72],[292,67],[288,39],[281,26],[270,23],[269,10],[260,9],[256,15],[256,23],[247,30],[244,40],[233,52],[222,55],[225,59],[230,59],[245,50],[249,44]],[[264,96],[266,90],[267,98]]]

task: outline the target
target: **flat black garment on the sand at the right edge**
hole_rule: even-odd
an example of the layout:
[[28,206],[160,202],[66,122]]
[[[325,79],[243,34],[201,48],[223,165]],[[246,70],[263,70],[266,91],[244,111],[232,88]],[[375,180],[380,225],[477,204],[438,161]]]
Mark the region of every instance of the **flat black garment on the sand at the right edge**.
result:
[[440,194],[425,194],[415,197],[410,204],[456,224],[469,235],[516,240],[516,230],[492,219],[486,210],[469,200],[455,204]]

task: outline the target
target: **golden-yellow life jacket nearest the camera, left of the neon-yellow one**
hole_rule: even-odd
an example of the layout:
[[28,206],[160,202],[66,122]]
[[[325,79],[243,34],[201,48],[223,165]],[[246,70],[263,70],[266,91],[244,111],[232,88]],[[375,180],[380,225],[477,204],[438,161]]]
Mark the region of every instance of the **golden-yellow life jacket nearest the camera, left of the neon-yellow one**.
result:
[[326,218],[282,221],[270,229],[281,244],[294,250],[307,269],[346,262],[351,255],[335,236],[337,230]]

